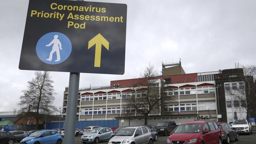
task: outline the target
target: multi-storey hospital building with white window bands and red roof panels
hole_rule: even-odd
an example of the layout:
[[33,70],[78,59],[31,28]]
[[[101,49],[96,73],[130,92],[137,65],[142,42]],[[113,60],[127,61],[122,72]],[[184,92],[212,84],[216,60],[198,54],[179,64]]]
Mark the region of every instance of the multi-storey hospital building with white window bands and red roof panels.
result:
[[[224,72],[224,74],[223,74]],[[240,70],[240,73],[243,70]],[[193,120],[215,120],[229,122],[245,119],[246,113],[239,102],[239,110],[235,101],[230,99],[225,89],[240,89],[244,83],[233,75],[236,72],[219,70],[215,72],[201,72],[192,74],[176,74],[154,77],[155,83],[151,87],[164,91],[161,95],[159,109],[149,114],[148,123],[157,124],[163,120],[173,120],[176,123]],[[233,78],[230,81],[227,75]],[[133,89],[134,83],[140,79],[123,79],[110,82],[108,87],[80,89],[78,96],[77,120],[113,120],[119,119],[120,126],[144,124],[143,115],[137,113],[127,100],[132,96],[143,98],[143,89]],[[164,81],[164,83],[162,83]],[[222,84],[222,86],[220,86]],[[225,85],[225,89],[224,89]],[[233,87],[232,87],[233,86]],[[64,92],[63,116],[67,105],[67,90]],[[230,102],[232,107],[230,107]],[[232,108],[232,109],[230,109]],[[218,114],[222,118],[218,119]]]

